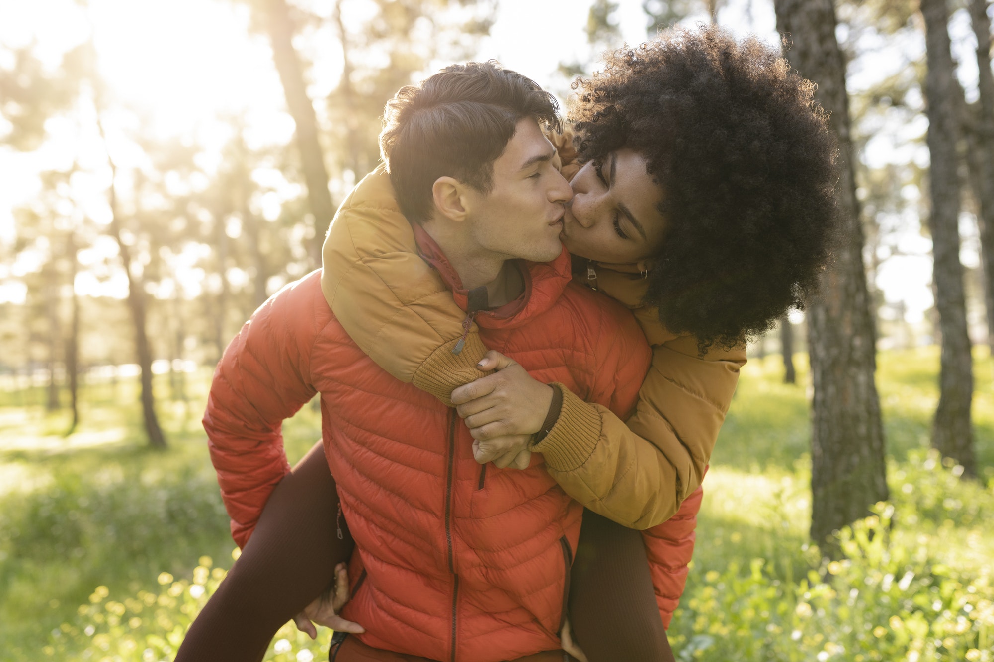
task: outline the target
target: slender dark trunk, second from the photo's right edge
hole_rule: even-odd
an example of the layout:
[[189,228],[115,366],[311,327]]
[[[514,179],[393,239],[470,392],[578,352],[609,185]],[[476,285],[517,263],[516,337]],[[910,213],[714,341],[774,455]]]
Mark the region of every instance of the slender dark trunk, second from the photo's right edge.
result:
[[970,401],[973,366],[966,327],[963,265],[959,261],[958,159],[959,83],[949,50],[949,13],[946,0],[922,0],[925,21],[925,103],[928,113],[929,189],[932,237],[932,281],[942,343],[938,409],[932,424],[932,447],[976,475]]

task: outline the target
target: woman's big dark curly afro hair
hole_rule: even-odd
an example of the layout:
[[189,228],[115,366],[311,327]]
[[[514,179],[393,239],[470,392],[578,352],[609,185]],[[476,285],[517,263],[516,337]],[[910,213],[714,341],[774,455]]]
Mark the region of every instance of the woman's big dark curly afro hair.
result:
[[662,188],[646,303],[670,331],[731,347],[803,308],[836,227],[838,150],[813,83],[702,26],[615,51],[574,87],[580,161],[626,147]]

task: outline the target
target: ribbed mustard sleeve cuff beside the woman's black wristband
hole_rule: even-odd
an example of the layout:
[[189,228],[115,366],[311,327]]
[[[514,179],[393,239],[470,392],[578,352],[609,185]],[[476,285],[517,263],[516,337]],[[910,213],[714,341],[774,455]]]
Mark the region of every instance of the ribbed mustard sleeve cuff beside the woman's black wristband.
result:
[[573,471],[583,465],[600,439],[600,414],[562,384],[550,384],[563,393],[563,409],[546,438],[532,446],[546,464],[557,471]]

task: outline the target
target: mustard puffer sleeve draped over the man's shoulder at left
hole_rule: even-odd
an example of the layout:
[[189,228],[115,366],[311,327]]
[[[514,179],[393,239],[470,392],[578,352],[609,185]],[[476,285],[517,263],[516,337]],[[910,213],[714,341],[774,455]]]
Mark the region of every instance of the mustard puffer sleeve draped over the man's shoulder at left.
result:
[[463,333],[465,314],[419,256],[411,224],[383,166],[342,203],[321,258],[321,290],[328,305],[384,370],[446,405],[452,389],[483,376],[474,368],[486,352],[475,327],[463,352],[450,352]]

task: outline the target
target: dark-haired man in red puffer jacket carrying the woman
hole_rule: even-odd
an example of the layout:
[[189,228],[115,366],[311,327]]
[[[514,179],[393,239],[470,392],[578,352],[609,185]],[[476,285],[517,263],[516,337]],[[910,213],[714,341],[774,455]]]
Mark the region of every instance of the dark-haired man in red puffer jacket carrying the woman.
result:
[[[487,346],[623,416],[649,350],[626,310],[571,281],[559,234],[572,192],[540,126],[555,112],[514,72],[446,68],[388,106],[389,176],[364,180],[340,214],[406,213],[420,255],[391,287],[446,283],[448,305],[472,307]],[[541,462],[488,474],[453,410],[391,377],[345,332],[339,318],[364,314],[361,302],[332,313],[335,284],[324,285],[315,271],[270,298],[218,367],[204,422],[236,541],[246,543],[288,470],[282,419],[320,394],[325,454],[357,548],[342,615],[365,629],[334,649],[336,662],[377,650],[401,657],[367,659],[558,651],[582,507]]]

